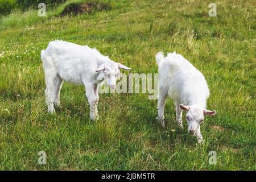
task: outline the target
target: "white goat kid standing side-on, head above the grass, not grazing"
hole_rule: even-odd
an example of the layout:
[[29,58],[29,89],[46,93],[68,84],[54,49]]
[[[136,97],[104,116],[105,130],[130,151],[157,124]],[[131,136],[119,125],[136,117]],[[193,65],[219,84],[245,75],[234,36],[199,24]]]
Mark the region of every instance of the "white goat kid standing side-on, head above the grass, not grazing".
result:
[[[95,48],[56,40],[41,52],[46,79],[46,104],[48,111],[55,111],[60,104],[60,89],[64,81],[84,84],[90,104],[90,119],[98,118],[98,84],[104,79],[115,89],[119,69],[130,69],[101,55]],[[99,79],[100,77],[100,79]],[[54,104],[54,105],[53,105]]]

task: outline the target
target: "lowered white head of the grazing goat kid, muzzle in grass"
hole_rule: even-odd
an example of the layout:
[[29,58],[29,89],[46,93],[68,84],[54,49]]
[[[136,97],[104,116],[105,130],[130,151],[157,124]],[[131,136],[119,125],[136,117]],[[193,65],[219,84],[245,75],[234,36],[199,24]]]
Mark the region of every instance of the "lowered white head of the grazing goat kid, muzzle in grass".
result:
[[201,123],[204,122],[204,115],[215,115],[216,111],[210,111],[197,105],[184,106],[179,105],[180,109],[187,111],[186,119],[188,122],[188,133],[195,135],[196,130],[200,130]]

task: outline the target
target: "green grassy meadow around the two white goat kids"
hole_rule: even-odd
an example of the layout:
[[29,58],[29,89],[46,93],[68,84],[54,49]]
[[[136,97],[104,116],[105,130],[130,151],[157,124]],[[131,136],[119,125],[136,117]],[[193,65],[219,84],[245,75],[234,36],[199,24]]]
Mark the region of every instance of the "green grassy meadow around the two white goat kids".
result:
[[[215,1],[217,17],[205,1],[104,2],[112,9],[0,19],[0,169],[255,170],[255,2]],[[84,87],[65,83],[61,107],[48,114],[40,51],[55,39],[96,47],[131,73],[157,73],[158,51],[182,54],[204,74],[208,109],[217,110],[201,127],[205,144],[185,122],[176,126],[170,99],[160,127],[147,94],[101,94],[92,122]],[[42,150],[46,165],[37,163]]]

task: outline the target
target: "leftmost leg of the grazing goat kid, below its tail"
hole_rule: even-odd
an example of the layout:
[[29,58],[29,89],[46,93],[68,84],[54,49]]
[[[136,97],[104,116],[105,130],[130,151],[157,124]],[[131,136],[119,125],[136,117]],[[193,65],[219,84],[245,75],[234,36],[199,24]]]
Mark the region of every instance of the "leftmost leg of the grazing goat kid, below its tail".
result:
[[158,97],[158,122],[164,127],[164,106],[166,105],[166,98],[168,94],[159,90]]

